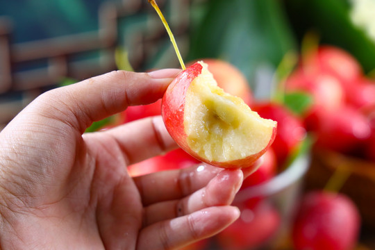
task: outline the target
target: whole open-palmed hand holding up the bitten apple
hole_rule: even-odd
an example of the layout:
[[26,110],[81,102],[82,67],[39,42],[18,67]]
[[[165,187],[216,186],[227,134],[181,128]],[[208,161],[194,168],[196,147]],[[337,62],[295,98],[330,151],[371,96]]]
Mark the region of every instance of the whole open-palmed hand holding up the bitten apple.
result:
[[175,249],[238,218],[241,170],[208,165],[131,178],[174,149],[162,119],[84,133],[163,96],[178,70],[110,72],[42,94],[0,133],[2,249]]

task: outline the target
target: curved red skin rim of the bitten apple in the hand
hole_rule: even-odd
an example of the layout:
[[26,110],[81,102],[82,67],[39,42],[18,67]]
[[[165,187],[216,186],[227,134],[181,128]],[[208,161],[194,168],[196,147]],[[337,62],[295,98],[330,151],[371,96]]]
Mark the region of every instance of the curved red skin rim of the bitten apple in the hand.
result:
[[183,115],[185,110],[185,96],[190,86],[190,83],[201,74],[202,65],[199,63],[194,63],[183,72],[178,74],[174,81],[168,86],[163,99],[162,99],[162,117],[165,123],[165,127],[169,132],[169,135],[172,136],[174,141],[178,144],[181,149],[189,153],[191,156],[196,158],[197,160],[208,163],[210,165],[214,165],[216,167],[223,167],[223,168],[233,168],[233,169],[240,169],[240,168],[248,168],[248,167],[256,167],[253,163],[255,163],[260,156],[267,151],[267,149],[271,146],[272,142],[274,142],[274,138],[276,136],[276,126],[273,129],[272,136],[269,140],[269,143],[265,147],[265,149],[259,151],[258,153],[254,153],[251,156],[246,158],[238,159],[238,160],[229,160],[227,162],[217,162],[214,160],[208,160],[206,158],[202,158],[197,153],[192,151],[188,146],[187,142],[187,135],[185,133],[185,128],[183,125]]

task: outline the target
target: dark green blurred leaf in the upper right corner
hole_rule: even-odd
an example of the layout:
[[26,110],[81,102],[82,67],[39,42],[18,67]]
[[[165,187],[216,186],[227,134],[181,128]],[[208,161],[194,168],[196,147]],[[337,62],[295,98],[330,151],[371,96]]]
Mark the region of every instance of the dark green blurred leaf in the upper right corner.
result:
[[375,43],[353,24],[351,6],[344,0],[286,0],[285,8],[302,40],[308,31],[319,35],[321,44],[333,44],[355,56],[370,72],[375,68]]

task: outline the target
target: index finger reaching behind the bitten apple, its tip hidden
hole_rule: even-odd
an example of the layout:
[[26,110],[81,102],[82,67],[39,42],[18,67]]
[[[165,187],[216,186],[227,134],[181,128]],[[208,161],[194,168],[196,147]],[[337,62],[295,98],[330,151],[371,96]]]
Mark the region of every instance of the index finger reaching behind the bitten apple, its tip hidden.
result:
[[[103,138],[103,135],[107,138]],[[159,156],[177,147],[160,116],[140,119],[86,136],[100,136],[103,140],[108,140],[109,136],[114,139],[124,153],[128,165]]]

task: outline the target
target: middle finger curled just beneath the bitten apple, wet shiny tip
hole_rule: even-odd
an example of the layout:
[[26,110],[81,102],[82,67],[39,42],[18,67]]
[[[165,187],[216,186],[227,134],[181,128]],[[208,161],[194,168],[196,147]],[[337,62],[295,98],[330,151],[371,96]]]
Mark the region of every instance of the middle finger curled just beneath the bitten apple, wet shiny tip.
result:
[[134,177],[142,203],[181,199],[207,185],[223,169],[206,164]]

